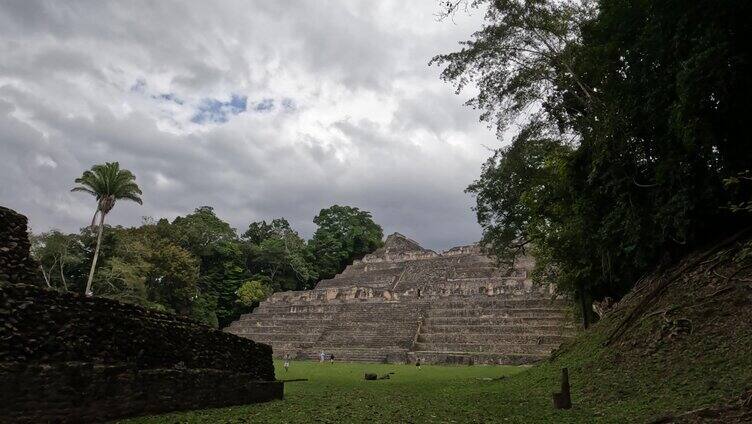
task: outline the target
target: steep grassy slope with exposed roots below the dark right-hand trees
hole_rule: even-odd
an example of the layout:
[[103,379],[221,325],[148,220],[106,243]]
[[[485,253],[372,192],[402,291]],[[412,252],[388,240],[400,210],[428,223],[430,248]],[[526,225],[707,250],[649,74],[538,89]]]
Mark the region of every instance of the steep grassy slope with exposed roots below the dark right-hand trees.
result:
[[592,422],[752,422],[751,246],[727,241],[648,276],[515,384],[539,393],[568,367]]

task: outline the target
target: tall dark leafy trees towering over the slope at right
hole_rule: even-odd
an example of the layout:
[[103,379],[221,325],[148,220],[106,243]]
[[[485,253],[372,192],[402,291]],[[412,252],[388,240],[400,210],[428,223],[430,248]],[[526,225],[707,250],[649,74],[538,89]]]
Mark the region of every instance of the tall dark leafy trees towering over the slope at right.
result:
[[497,256],[530,246],[560,291],[618,299],[749,219],[723,182],[752,160],[751,5],[471,5],[487,8],[483,28],[433,63],[458,90],[478,85],[469,104],[500,133],[521,128],[468,188]]

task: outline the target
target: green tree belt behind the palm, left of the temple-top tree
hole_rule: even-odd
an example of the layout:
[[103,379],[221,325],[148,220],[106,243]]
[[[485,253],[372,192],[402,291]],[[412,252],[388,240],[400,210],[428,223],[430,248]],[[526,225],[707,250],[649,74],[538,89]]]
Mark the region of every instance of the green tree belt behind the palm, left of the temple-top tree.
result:
[[[32,254],[42,264],[44,281],[59,290],[81,290],[98,235],[91,227],[79,234],[34,235]],[[284,218],[251,223],[239,238],[207,206],[172,223],[145,218],[139,227],[108,226],[98,251],[101,265],[93,275],[98,295],[220,328],[271,293],[309,289],[318,279],[311,250]],[[264,296],[239,299],[248,282],[261,284]]]

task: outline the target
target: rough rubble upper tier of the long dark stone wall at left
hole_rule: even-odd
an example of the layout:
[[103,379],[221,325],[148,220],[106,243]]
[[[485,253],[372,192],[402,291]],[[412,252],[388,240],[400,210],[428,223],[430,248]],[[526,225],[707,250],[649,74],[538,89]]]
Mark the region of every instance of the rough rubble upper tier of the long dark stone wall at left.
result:
[[24,284],[0,285],[0,362],[133,363],[273,380],[271,348],[177,315]]

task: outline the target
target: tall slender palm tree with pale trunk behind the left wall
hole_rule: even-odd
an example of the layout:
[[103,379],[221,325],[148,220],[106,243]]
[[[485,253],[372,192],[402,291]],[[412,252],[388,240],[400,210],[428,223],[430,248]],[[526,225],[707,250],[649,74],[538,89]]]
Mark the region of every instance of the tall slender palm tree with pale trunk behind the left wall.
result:
[[97,198],[97,210],[91,219],[94,228],[97,214],[99,214],[99,231],[97,234],[97,247],[94,250],[94,260],[89,271],[89,280],[86,282],[86,295],[91,296],[91,282],[94,279],[94,269],[97,267],[99,257],[99,245],[102,243],[102,229],[104,217],[115,206],[115,201],[120,199],[132,200],[139,205],[143,204],[139,195],[141,189],[136,184],[136,176],[127,169],[120,169],[117,162],[107,162],[104,165],[94,165],[90,171],[84,171],[80,178],[76,178],[78,186],[71,191],[83,191]]

